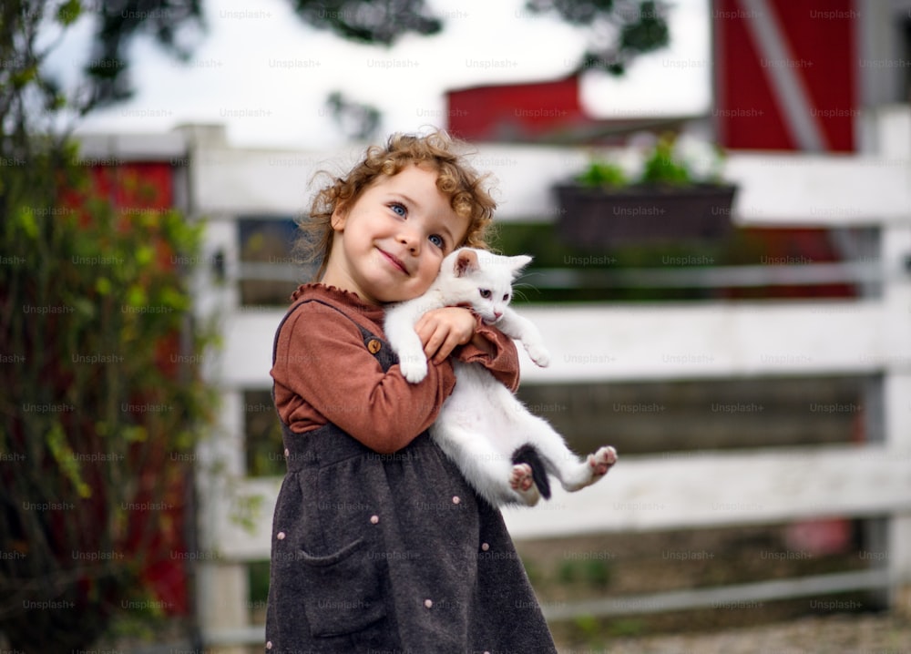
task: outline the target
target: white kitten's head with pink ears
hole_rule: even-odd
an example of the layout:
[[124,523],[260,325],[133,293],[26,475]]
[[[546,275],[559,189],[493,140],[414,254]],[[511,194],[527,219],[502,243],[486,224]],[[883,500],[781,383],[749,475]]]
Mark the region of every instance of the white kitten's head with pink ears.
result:
[[447,289],[466,302],[486,324],[494,324],[512,300],[512,283],[531,257],[505,257],[487,250],[462,248],[443,261]]

